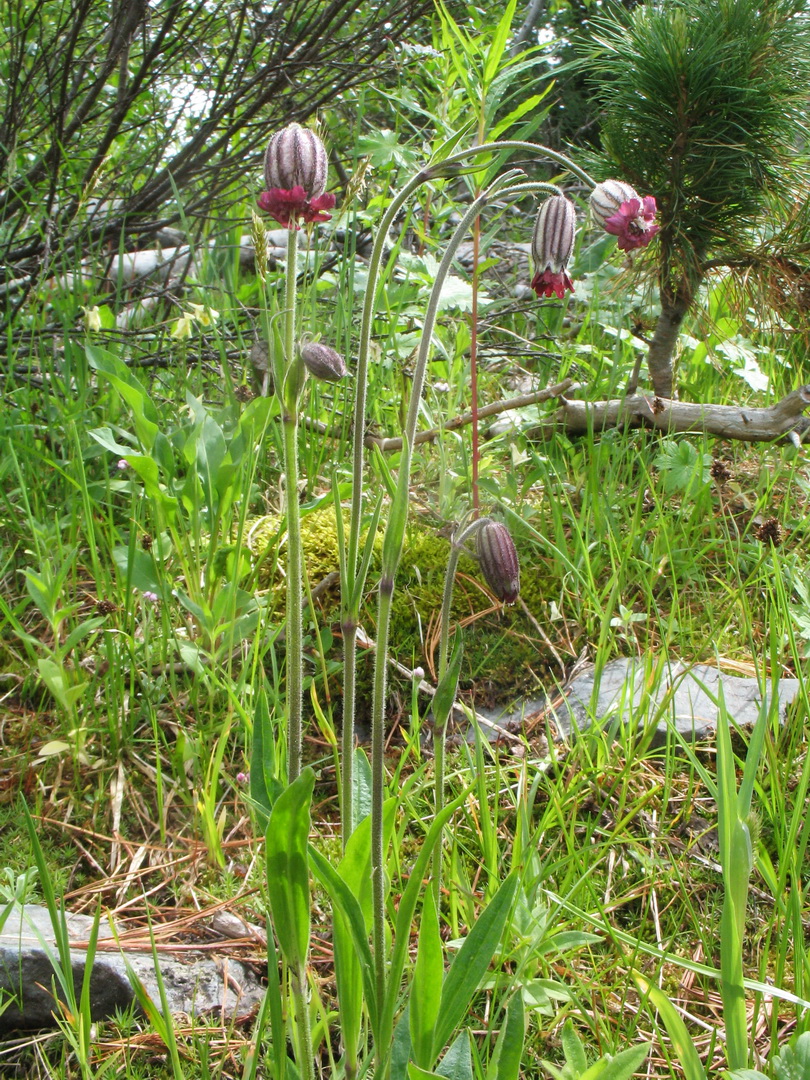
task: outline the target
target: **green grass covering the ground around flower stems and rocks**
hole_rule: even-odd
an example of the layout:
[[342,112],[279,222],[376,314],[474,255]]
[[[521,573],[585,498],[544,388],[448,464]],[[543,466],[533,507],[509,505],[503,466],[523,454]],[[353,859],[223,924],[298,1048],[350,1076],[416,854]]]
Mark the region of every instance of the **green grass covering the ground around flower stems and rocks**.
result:
[[[354,273],[339,261],[330,278],[312,284],[308,300],[347,352],[356,320]],[[151,922],[170,936],[175,922],[195,912],[202,933],[204,914],[222,902],[258,923],[268,910],[261,843],[239,774],[248,768],[256,688],[266,687],[274,717],[284,697],[280,438],[272,410],[262,413],[259,403],[252,406],[256,426],[239,444],[248,406],[237,391],[248,381],[248,315],[256,315],[257,295],[252,275],[240,276],[235,265],[228,265],[228,276],[229,292],[189,291],[220,318],[187,342],[168,337],[176,314],[137,335],[91,336],[90,343],[130,366],[141,388],[133,392],[134,381],[127,391],[87,364],[70,297],[52,296],[50,307],[35,300],[16,343],[37,374],[6,379],[0,415],[0,866],[18,875],[31,865],[18,828],[24,798],[55,895],[75,910],[93,912],[100,901],[120,912],[123,926]],[[608,269],[603,276],[607,283]],[[369,421],[386,434],[399,433],[399,395],[408,392],[415,311],[424,294],[416,274],[395,281],[377,320]],[[595,289],[594,296],[590,305],[571,301],[571,325],[563,324],[555,305],[517,308],[501,298],[501,314],[483,329],[483,400],[570,372],[588,380],[589,395],[618,392],[635,353],[608,327],[629,320],[613,292]],[[756,325],[747,333],[771,356],[784,347]],[[64,353],[55,356],[56,337]],[[467,316],[448,311],[438,337],[424,427],[469,407]],[[517,354],[510,351],[515,341],[524,342]],[[759,354],[760,366],[768,355]],[[159,366],[167,357],[168,365]],[[714,357],[684,373],[689,397],[739,400],[745,388],[717,363]],[[797,373],[773,360],[766,374],[778,395]],[[350,396],[343,387],[313,389],[309,415],[330,434],[301,434],[311,589],[337,569],[329,492],[333,474],[340,482],[350,474]],[[746,400],[758,401],[747,391]],[[673,440],[673,453],[688,444],[696,460],[705,455],[715,462],[713,476],[692,480],[662,468],[669,441],[656,434],[572,440],[559,433],[538,443],[522,430],[537,415],[527,411],[484,448],[484,501],[518,544],[525,607],[498,610],[475,582],[474,563],[462,564],[467,577],[454,618],[467,624],[465,701],[505,705],[541,686],[553,690],[583,652],[597,665],[618,656],[677,657],[732,671],[742,665],[760,678],[804,678],[807,638],[798,632],[808,623],[796,619],[810,618],[797,593],[808,572],[804,451],[700,435]],[[91,434],[107,428],[108,445],[148,457],[138,440],[143,444],[150,422],[162,440],[153,483],[146,467],[119,469],[122,453]],[[215,428],[233,451],[232,472],[218,474],[218,501],[199,468],[200,446],[210,436],[211,450]],[[429,673],[447,535],[470,507],[468,435],[421,447],[415,460],[393,640],[406,667]],[[396,468],[396,455],[389,467]],[[368,469],[381,487],[383,470],[373,457]],[[311,508],[318,509],[307,514]],[[775,523],[770,532],[762,529],[769,519]],[[267,527],[257,545],[252,529],[258,521]],[[374,612],[369,596],[363,618],[372,637]],[[334,589],[314,598],[305,633],[306,757],[318,773],[312,842],[336,859],[340,627]],[[369,677],[361,665],[366,693]],[[390,690],[393,913],[429,825],[432,761],[415,734],[427,702],[406,677],[392,678]],[[802,886],[810,873],[808,712],[805,689],[785,727],[768,721],[754,783],[760,824],[742,949],[746,978],[773,982],[804,1000],[810,997]],[[279,761],[281,728],[279,721]],[[645,1075],[681,1076],[671,1036],[642,1002],[633,970],[684,1010],[706,1068],[720,1075],[724,1016],[719,983],[708,970],[719,967],[724,896],[718,808],[706,784],[715,774],[714,747],[692,751],[673,734],[653,748],[645,730],[617,734],[612,742],[594,730],[550,750],[539,726],[519,752],[510,743],[450,751],[448,796],[473,787],[447,831],[443,937],[453,942],[469,932],[510,869],[518,879],[519,899],[496,963],[471,1003],[482,1076],[515,995],[527,1016],[522,1076],[544,1075],[543,1059],[562,1064],[567,1020],[592,1057],[649,1039]],[[735,740],[742,759],[747,735]],[[42,883],[31,890],[38,899]],[[321,894],[315,899],[312,1010],[318,1056],[329,1075],[327,1047],[339,1057],[339,1026],[328,908]],[[178,926],[175,933],[185,930]],[[259,964],[265,957],[258,947],[248,955]],[[753,990],[746,1002],[757,1050],[808,1028],[804,1005],[771,1003]],[[247,1027],[177,1023],[164,1035],[170,1061],[154,1027],[132,1018],[100,1025],[81,1052],[84,1061],[60,1036],[31,1039],[13,1053],[21,1075],[31,1076],[50,1070],[68,1078],[110,1061],[112,1071],[126,1077],[177,1076],[178,1069],[187,1077],[241,1075]]]

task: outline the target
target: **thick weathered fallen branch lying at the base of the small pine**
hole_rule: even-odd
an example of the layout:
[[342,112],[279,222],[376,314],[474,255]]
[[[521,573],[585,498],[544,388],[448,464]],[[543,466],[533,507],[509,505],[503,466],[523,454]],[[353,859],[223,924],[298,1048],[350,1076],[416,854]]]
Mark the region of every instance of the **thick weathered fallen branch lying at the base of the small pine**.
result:
[[810,406],[810,386],[799,387],[774,405],[764,407],[693,404],[644,394],[605,402],[561,400],[561,407],[527,430],[527,435],[546,438],[561,429],[568,434],[583,434],[591,428],[594,431],[654,428],[670,434],[696,432],[746,443],[765,443],[782,437],[796,446],[810,437],[810,419],[802,416]]

